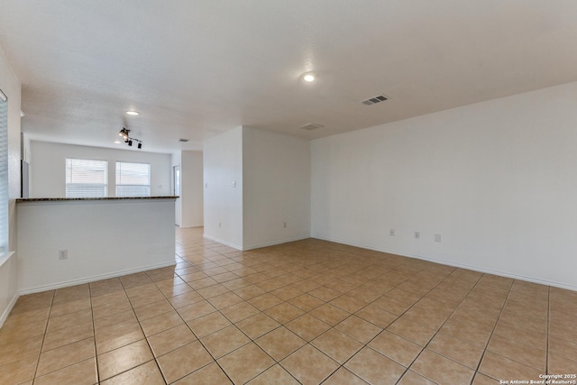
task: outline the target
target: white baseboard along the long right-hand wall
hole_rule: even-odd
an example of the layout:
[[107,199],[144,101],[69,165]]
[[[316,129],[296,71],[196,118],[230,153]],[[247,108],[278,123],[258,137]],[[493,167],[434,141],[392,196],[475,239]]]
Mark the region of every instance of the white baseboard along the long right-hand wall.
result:
[[439,264],[443,264],[443,265],[447,265],[447,266],[453,266],[455,268],[460,268],[460,269],[465,269],[465,270],[479,271],[482,273],[498,275],[499,277],[512,278],[513,280],[525,280],[527,282],[538,283],[540,285],[545,285],[545,286],[552,286],[554,288],[577,291],[577,286],[575,286],[575,285],[569,285],[566,283],[554,282],[554,281],[550,281],[550,280],[541,280],[541,279],[536,278],[536,277],[527,277],[524,275],[511,273],[508,271],[492,270],[492,269],[487,269],[487,268],[483,268],[483,267],[476,266],[476,265],[470,265],[467,263],[457,263],[457,262],[453,262],[453,261],[444,261],[444,260],[440,260],[440,259],[436,259],[436,258],[426,257],[423,255],[410,254],[407,252],[397,252],[394,250],[378,249],[378,248],[367,246],[367,245],[360,244],[360,243],[351,243],[351,242],[327,238],[327,237],[318,236],[318,235],[313,235],[312,237],[319,239],[319,240],[322,240],[322,241],[346,244],[348,246],[360,247],[362,249],[372,250],[375,252],[387,252],[389,254],[400,255],[401,257],[408,257],[408,258],[414,258],[414,259],[422,260],[422,261],[435,262],[435,263],[439,263]]

